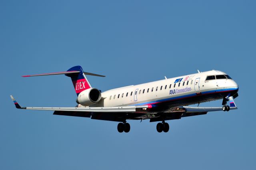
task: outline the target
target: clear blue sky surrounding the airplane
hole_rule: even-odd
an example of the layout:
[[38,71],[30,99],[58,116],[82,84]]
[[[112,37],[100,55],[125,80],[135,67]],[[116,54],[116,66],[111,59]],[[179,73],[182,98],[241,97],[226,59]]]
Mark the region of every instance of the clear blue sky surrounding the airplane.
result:
[[[0,2],[0,169],[253,169],[255,1],[12,1]],[[239,109],[156,123],[52,115],[14,107],[76,105],[66,71],[102,91],[207,70],[239,85]],[[202,106],[220,106],[221,101]]]

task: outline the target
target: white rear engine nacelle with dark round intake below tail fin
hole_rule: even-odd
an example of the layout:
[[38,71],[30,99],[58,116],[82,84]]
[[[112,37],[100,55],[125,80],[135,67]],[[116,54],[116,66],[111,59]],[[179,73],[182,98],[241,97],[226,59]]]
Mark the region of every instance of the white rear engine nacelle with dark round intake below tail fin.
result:
[[77,99],[76,103],[83,105],[83,106],[89,106],[95,103],[98,103],[101,98],[101,93],[98,89],[90,88],[82,91]]

